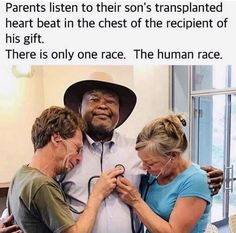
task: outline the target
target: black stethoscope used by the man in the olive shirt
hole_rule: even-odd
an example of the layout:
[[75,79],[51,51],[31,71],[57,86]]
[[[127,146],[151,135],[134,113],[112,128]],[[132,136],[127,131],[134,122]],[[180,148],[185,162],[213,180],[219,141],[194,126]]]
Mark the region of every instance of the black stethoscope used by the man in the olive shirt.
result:
[[[116,164],[116,165],[115,165],[115,168],[119,168],[119,169],[122,171],[122,173],[121,173],[119,176],[123,176],[123,174],[125,173],[125,167],[124,167],[124,165],[122,165],[122,164]],[[63,188],[62,188],[62,185],[61,185],[61,184],[62,184],[62,181],[63,181],[64,178],[65,178],[65,176],[66,176],[66,174],[61,175],[60,178],[59,178],[59,180],[58,180],[58,183],[59,183],[59,185],[60,185],[60,187],[61,187],[61,189],[62,189],[62,193],[63,193],[64,199],[65,199],[65,201],[66,201],[66,194],[63,192]],[[90,196],[90,194],[91,194],[92,181],[93,181],[94,179],[98,179],[99,177],[100,177],[99,175],[92,176],[92,177],[90,177],[90,179],[88,180],[88,199],[89,199],[89,196]],[[80,203],[81,206],[84,207],[83,210],[78,211],[78,210],[76,210],[70,203],[67,202],[67,204],[69,205],[70,211],[71,211],[72,213],[74,213],[74,214],[82,214],[82,213],[84,212],[85,207],[86,207],[86,203],[84,203],[84,202],[82,202],[82,201],[80,201],[80,200],[77,200],[77,201]]]

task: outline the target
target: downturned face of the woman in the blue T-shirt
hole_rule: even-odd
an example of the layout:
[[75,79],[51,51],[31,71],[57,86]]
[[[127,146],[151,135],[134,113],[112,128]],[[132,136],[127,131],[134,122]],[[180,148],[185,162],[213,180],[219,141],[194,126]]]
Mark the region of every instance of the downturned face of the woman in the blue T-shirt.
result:
[[167,163],[170,158],[163,156],[160,153],[153,154],[147,147],[142,147],[138,150],[138,156],[143,162],[143,169],[148,171],[153,176],[166,173]]

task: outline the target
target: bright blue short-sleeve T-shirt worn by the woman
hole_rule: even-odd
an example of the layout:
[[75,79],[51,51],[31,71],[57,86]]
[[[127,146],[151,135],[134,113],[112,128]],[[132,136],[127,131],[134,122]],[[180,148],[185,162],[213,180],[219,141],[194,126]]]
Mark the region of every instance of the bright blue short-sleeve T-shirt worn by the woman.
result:
[[206,173],[198,165],[192,164],[166,185],[159,185],[158,182],[153,182],[154,179],[156,178],[150,176],[148,180],[148,183],[152,183],[145,200],[149,207],[161,218],[169,221],[177,199],[199,197],[207,202],[207,206],[192,233],[204,232],[212,201]]

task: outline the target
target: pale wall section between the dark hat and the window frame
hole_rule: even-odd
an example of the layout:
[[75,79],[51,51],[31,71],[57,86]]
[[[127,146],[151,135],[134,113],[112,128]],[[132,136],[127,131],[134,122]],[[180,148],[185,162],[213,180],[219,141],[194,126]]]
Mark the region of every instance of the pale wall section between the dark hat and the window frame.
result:
[[134,91],[138,102],[125,126],[133,137],[147,122],[169,111],[169,66],[135,66]]

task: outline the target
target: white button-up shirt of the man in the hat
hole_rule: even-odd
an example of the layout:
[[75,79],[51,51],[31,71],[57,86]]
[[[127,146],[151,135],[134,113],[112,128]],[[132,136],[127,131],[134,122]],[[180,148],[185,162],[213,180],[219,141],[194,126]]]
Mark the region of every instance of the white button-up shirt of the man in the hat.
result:
[[[96,177],[117,164],[125,167],[124,176],[136,187],[139,186],[141,161],[135,151],[135,141],[117,132],[108,142],[94,142],[89,136],[84,140],[81,162],[74,167],[62,182],[67,201],[81,211],[87,200],[88,190],[92,191]],[[94,178],[93,178],[94,177]],[[89,182],[90,180],[90,182]],[[76,218],[78,215],[74,214]],[[93,233],[132,233],[129,207],[112,192],[102,203]]]

